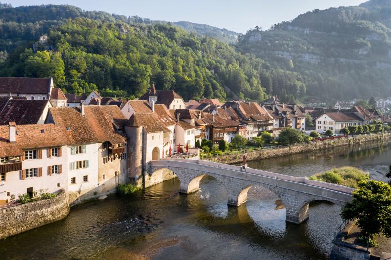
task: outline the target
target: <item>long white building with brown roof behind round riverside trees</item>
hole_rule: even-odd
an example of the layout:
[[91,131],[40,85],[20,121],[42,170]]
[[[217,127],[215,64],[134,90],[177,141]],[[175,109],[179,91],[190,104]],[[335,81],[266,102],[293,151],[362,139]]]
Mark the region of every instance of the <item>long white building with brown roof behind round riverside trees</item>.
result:
[[332,112],[325,113],[316,119],[315,129],[317,132],[331,130],[336,134],[341,129],[349,126],[363,125],[364,121],[353,112]]

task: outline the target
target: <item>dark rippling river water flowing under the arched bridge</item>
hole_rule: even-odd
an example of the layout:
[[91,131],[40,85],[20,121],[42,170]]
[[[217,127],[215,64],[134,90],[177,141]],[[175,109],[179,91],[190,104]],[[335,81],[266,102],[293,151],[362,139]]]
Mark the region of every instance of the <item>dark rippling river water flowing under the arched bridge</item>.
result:
[[[252,168],[310,176],[351,165],[386,180],[391,146],[362,144],[249,162]],[[340,208],[312,203],[301,225],[285,222],[272,192],[254,187],[244,206],[227,206],[211,177],[181,195],[168,180],[130,196],[111,195],[71,209],[67,218],[0,241],[0,259],[327,259]]]

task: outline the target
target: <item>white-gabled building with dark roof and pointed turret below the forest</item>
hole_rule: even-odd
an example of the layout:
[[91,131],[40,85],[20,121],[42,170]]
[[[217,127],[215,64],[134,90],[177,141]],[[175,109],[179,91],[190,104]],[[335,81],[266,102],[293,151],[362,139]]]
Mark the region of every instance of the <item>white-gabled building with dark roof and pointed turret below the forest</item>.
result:
[[174,90],[156,90],[155,85],[152,85],[152,89],[142,95],[139,100],[145,100],[149,103],[154,101],[155,104],[163,104],[168,109],[186,108],[182,97]]

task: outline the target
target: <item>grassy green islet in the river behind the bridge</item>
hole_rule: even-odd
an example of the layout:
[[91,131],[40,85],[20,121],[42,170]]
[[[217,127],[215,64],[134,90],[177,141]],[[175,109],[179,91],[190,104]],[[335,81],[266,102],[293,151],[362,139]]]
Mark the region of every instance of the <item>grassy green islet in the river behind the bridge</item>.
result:
[[369,179],[369,174],[358,168],[345,166],[341,168],[333,168],[332,170],[324,173],[317,173],[308,179],[334,183],[350,188],[357,188],[358,182]]

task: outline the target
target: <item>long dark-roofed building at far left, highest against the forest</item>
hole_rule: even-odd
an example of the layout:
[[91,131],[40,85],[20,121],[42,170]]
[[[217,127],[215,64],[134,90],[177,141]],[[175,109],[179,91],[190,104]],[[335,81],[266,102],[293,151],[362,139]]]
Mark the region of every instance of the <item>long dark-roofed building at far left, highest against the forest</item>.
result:
[[53,88],[53,77],[0,77],[0,96],[22,96],[29,100],[48,100]]

